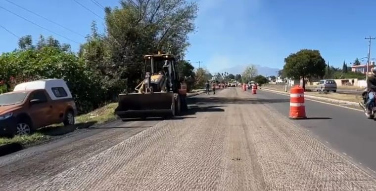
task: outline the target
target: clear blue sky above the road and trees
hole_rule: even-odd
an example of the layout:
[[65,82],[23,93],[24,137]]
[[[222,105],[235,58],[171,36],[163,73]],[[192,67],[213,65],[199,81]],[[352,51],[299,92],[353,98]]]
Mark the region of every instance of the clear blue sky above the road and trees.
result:
[[[82,35],[90,33],[92,20],[102,28],[103,20],[74,0],[12,0]],[[92,0],[78,0],[103,17],[103,11]],[[103,6],[116,6],[118,0],[96,0]],[[38,3],[36,3],[38,2]],[[376,0],[198,0],[197,32],[190,35],[191,46],[186,59],[211,72],[239,65],[259,64],[282,68],[283,58],[302,48],[319,49],[330,65],[341,67],[343,60],[353,62],[367,56],[366,36],[376,36]],[[84,42],[80,35],[56,26],[5,0],[0,6],[70,38]],[[1,26],[18,37],[52,35],[0,8]],[[11,51],[17,38],[0,28],[0,51]],[[376,40],[374,40],[376,48]],[[376,57],[373,48],[371,57]],[[375,51],[374,51],[375,50]]]

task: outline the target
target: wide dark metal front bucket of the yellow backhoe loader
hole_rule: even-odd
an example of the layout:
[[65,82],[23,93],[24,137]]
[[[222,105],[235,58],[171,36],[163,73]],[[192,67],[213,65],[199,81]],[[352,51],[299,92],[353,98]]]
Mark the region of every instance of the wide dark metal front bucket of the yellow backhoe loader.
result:
[[174,93],[119,94],[115,114],[120,118],[171,115]]

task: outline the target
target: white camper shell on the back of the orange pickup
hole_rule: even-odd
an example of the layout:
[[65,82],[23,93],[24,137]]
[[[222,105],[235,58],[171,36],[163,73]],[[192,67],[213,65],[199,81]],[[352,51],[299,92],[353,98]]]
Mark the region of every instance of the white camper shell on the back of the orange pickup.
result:
[[[63,88],[66,95],[61,93],[60,88]],[[72,98],[67,84],[63,79],[41,79],[36,81],[29,81],[17,84],[13,91],[31,90],[31,89],[45,89],[51,100]]]

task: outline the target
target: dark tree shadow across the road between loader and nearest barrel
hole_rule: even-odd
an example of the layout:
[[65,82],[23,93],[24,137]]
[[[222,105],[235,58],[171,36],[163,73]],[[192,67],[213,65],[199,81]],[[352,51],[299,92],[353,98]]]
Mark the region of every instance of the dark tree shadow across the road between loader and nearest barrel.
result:
[[260,99],[260,98],[224,98],[224,97],[199,97],[190,98],[188,104],[204,105],[204,104],[265,104],[265,103],[283,103],[290,102],[287,99]]

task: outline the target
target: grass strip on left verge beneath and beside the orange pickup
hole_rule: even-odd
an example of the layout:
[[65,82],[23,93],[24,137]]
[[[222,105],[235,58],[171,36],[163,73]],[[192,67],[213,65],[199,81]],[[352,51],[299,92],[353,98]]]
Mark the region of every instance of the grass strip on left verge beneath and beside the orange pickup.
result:
[[14,136],[12,138],[0,137],[0,145],[9,143],[18,143],[22,146],[32,145],[47,141],[56,135],[72,132],[79,128],[80,125],[87,124],[86,126],[88,126],[95,123],[104,123],[116,118],[114,115],[116,107],[117,103],[110,103],[88,114],[79,115],[76,117],[76,125],[73,127],[64,127],[64,125],[60,123],[44,127],[31,135]]

